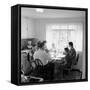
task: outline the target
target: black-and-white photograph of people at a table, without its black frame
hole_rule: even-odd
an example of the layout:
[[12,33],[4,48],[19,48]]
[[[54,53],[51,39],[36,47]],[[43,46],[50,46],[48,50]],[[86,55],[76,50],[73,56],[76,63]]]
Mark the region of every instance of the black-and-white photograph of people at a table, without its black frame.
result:
[[21,83],[86,78],[85,11],[21,8]]

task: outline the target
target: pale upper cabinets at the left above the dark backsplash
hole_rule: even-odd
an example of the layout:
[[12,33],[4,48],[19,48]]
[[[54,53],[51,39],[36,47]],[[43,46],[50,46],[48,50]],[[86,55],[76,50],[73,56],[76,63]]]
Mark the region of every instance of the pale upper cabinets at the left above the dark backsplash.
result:
[[35,27],[34,19],[22,17],[21,38],[34,38],[35,37],[34,27]]

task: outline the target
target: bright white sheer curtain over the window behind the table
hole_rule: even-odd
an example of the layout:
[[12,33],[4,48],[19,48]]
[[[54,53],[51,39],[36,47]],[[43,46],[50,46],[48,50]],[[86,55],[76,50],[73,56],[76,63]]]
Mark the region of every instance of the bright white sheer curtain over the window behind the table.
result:
[[83,25],[81,23],[50,24],[46,26],[47,48],[55,45],[56,50],[63,51],[72,41],[77,51],[82,51]]

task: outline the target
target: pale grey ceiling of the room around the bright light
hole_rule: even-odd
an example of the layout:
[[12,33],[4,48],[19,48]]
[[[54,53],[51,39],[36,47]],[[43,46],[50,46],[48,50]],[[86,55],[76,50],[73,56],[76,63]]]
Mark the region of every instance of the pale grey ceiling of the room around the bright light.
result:
[[73,18],[84,17],[84,11],[44,9],[43,13],[36,12],[36,8],[22,8],[21,16],[28,18]]

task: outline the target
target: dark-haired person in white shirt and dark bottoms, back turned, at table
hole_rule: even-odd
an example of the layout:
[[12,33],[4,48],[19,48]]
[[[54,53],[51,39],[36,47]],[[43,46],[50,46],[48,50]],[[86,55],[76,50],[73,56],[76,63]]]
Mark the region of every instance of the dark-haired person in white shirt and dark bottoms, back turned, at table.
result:
[[50,63],[52,61],[50,55],[44,50],[44,43],[39,42],[38,43],[38,50],[34,53],[34,60],[40,59],[43,63],[43,74],[44,79],[53,79],[53,72],[54,72],[54,66],[53,63]]

